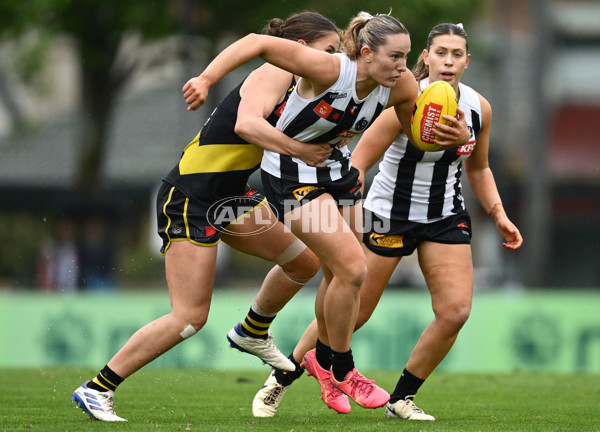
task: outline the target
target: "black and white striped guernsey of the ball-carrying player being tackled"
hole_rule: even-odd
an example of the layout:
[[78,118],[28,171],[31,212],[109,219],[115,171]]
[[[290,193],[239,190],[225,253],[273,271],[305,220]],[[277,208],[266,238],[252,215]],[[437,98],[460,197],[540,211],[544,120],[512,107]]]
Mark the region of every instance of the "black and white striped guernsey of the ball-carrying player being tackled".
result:
[[342,178],[350,170],[347,146],[335,147],[343,139],[364,132],[387,106],[390,89],[378,86],[364,99],[356,96],[356,62],[340,57],[340,76],[326,92],[312,99],[290,95],[277,128],[298,141],[330,143],[333,151],[323,167],[312,167],[300,159],[265,150],[261,168],[269,174],[297,183],[318,184]]

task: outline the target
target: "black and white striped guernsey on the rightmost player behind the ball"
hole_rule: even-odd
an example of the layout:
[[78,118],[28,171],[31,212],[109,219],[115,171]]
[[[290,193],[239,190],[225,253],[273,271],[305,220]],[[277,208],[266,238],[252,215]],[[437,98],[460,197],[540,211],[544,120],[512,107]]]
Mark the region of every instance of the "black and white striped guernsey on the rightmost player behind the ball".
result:
[[[423,90],[429,78],[420,81]],[[481,129],[481,103],[475,90],[459,83],[458,106],[465,112],[471,131],[463,146],[438,152],[423,152],[400,134],[379,164],[379,172],[364,202],[377,215],[417,223],[431,223],[465,209],[462,195],[462,161],[477,144]]]

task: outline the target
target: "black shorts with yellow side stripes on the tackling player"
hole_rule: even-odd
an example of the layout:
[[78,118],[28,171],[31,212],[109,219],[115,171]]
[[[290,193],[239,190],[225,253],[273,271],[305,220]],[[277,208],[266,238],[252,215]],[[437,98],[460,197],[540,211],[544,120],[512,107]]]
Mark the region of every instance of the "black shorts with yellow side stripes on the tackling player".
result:
[[242,196],[215,203],[198,202],[163,181],[156,197],[158,235],[163,241],[160,252],[164,255],[172,241],[215,246],[229,224],[265,202],[266,198],[249,186]]

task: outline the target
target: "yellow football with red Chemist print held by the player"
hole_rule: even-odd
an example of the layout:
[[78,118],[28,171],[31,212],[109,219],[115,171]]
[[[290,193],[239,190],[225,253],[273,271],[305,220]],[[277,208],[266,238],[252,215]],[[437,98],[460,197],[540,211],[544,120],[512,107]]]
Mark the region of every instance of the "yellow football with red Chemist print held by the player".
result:
[[444,147],[433,142],[435,139],[435,123],[449,124],[443,115],[456,117],[456,93],[446,81],[435,81],[429,84],[419,95],[410,120],[413,144],[423,151],[433,152]]

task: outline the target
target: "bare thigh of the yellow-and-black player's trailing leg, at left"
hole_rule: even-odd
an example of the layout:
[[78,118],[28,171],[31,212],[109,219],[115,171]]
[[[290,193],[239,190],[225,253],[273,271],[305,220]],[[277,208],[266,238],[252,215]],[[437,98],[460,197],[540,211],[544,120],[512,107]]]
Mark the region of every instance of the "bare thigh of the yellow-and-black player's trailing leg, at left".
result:
[[165,272],[172,312],[205,320],[215,280],[217,247],[174,241],[165,254]]

